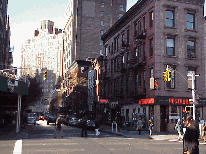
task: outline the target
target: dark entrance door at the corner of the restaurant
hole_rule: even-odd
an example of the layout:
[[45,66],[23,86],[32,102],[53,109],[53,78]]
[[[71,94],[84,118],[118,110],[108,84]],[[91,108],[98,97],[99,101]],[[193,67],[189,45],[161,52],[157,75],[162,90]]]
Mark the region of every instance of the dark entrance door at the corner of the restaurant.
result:
[[167,123],[169,121],[169,112],[167,105],[160,105],[160,131],[165,132],[167,130]]

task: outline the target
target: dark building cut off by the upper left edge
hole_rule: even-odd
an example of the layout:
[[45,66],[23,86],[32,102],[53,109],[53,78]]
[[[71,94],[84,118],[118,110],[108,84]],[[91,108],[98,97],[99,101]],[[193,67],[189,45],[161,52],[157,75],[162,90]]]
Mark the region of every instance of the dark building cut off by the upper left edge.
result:
[[0,0],[0,69],[12,67],[13,57],[10,50],[10,25],[7,15],[8,0]]

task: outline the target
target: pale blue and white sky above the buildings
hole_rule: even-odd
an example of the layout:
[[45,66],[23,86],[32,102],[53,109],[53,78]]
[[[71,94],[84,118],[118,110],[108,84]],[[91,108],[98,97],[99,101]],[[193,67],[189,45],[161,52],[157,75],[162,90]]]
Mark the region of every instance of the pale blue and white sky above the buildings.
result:
[[[127,10],[138,0],[127,0]],[[10,19],[11,43],[14,46],[13,66],[20,67],[21,46],[34,36],[40,27],[40,21],[51,20],[54,26],[63,29],[65,9],[69,0],[9,0],[8,15]]]

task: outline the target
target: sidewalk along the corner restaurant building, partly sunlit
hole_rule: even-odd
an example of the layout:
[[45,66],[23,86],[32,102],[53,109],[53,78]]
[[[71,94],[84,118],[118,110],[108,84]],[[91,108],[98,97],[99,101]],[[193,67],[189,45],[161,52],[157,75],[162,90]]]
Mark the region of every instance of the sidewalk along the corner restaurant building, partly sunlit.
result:
[[127,131],[120,128],[120,131],[116,132],[116,128],[113,129],[108,125],[101,125],[100,131],[116,134],[119,136],[124,136],[128,138],[142,138],[142,139],[151,139],[151,140],[177,140],[177,133],[168,133],[168,132],[153,132],[152,136],[149,135],[149,131],[142,131],[141,135],[138,135],[137,131]]

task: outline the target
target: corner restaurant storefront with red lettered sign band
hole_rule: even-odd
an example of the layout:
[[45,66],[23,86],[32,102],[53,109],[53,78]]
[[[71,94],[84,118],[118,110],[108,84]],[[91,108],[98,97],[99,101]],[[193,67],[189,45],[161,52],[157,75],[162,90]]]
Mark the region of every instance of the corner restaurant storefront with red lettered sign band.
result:
[[153,120],[154,131],[174,132],[177,120],[186,117],[187,113],[182,112],[183,109],[191,104],[188,98],[155,97],[140,99],[139,105],[149,106],[147,120]]

